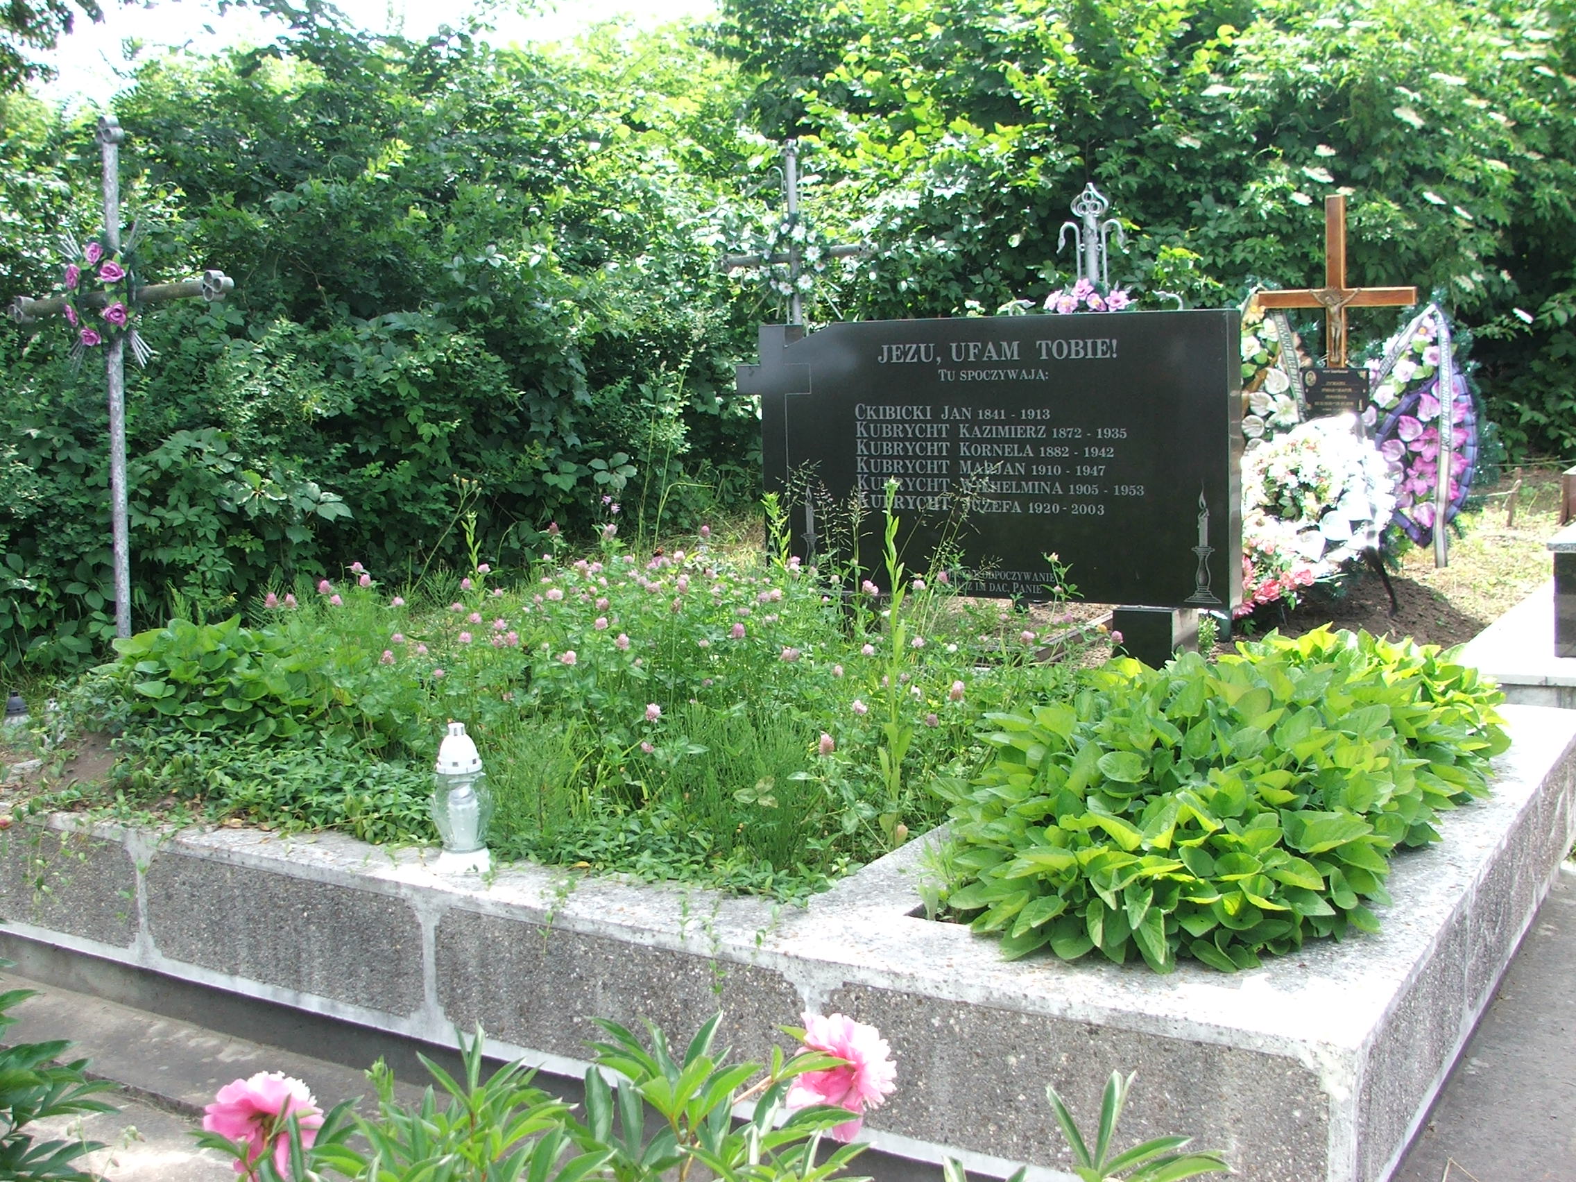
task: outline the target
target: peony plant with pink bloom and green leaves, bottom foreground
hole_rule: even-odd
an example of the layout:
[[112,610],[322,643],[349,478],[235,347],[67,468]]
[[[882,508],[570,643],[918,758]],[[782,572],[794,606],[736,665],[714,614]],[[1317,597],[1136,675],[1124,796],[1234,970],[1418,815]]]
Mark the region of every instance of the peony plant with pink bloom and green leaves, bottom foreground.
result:
[[[437,1089],[429,1086],[414,1106],[394,1098],[394,1076],[381,1062],[369,1072],[378,1095],[370,1119],[351,1111],[355,1102],[325,1116],[299,1081],[269,1086],[254,1076],[230,1087],[262,1084],[268,1091],[252,1095],[271,1092],[276,1098],[265,1103],[277,1111],[217,1114],[230,1087],[222,1089],[208,1125],[244,1136],[203,1132],[197,1139],[235,1157],[246,1182],[306,1182],[329,1169],[364,1182],[682,1182],[692,1173],[730,1182],[823,1182],[840,1174],[862,1146],[843,1144],[820,1158],[816,1150],[823,1133],[856,1121],[857,1110],[796,1103],[779,1116],[794,1080],[849,1062],[813,1048],[791,1057],[774,1048],[764,1075],[760,1064],[728,1064],[714,1045],[720,1018],[703,1023],[681,1056],[656,1026],[648,1045],[599,1020],[607,1042],[593,1043],[583,1117],[537,1087],[536,1073],[520,1062],[487,1075],[478,1029],[460,1037],[460,1078],[421,1057]],[[284,1103],[282,1094],[290,1097]],[[736,1108],[752,1100],[750,1116],[736,1122]]]

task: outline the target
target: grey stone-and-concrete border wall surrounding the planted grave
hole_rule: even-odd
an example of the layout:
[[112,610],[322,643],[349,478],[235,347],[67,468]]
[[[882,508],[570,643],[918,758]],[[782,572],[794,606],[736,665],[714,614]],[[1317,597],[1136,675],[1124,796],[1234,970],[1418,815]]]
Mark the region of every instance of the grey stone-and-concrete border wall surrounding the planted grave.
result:
[[575,1039],[593,1015],[684,1034],[725,1007],[728,1040],[760,1054],[801,1009],[843,1010],[898,1056],[872,1139],[927,1160],[1023,1160],[1065,1179],[1043,1087],[1089,1114],[1119,1069],[1138,1072],[1125,1138],[1191,1133],[1247,1182],[1382,1182],[1576,835],[1576,716],[1505,714],[1494,796],[1447,815],[1442,845],[1396,859],[1381,935],[1236,976],[1002,961],[993,941],[922,916],[922,842],[796,909],[539,867],[443,879],[422,851],[340,835],[151,835],[60,816],[50,832],[99,849],[84,898],[134,884],[131,939],[30,911],[9,867],[0,908],[28,939],[433,1042],[482,1020],[495,1053],[561,1072],[583,1067]]

